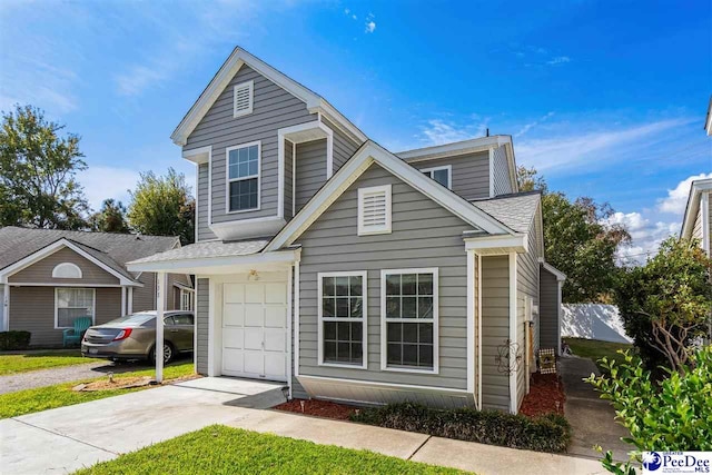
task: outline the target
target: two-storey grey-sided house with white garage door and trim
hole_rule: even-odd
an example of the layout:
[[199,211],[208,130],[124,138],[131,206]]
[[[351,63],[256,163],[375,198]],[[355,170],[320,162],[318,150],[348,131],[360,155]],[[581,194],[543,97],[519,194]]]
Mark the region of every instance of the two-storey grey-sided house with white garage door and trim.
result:
[[517,412],[563,276],[511,137],[394,155],[236,48],[171,138],[197,166],[198,241],[128,268],[196,275],[199,373]]

